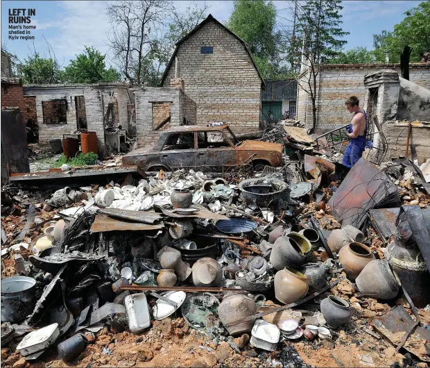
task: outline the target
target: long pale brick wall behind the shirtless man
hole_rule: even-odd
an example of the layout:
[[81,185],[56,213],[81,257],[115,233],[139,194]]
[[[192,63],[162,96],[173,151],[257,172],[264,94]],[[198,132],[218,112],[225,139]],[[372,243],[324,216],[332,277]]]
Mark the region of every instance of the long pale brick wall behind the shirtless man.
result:
[[[381,69],[395,69],[400,75],[399,65],[322,65],[317,77],[317,126],[329,131],[350,122],[345,99],[351,95],[359,97],[363,107],[366,88],[364,76]],[[411,82],[430,89],[430,64],[411,64]],[[298,86],[298,119],[312,126],[311,99],[304,88]]]

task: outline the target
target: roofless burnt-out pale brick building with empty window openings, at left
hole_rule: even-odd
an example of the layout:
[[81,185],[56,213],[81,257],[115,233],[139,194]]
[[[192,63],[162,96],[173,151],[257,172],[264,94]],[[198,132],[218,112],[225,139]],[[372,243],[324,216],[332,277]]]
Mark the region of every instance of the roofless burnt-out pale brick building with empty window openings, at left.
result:
[[41,149],[49,141],[81,129],[97,133],[98,150],[105,151],[105,127],[132,131],[132,95],[125,83],[25,85],[26,118],[37,119]]

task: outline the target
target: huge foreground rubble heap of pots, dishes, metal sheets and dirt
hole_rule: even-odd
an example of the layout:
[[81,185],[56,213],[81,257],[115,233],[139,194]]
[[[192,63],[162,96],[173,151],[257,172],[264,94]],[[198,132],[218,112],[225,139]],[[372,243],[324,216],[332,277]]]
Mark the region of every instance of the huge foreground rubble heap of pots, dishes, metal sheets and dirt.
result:
[[252,176],[4,186],[5,367],[427,366],[426,177],[283,135],[287,165]]

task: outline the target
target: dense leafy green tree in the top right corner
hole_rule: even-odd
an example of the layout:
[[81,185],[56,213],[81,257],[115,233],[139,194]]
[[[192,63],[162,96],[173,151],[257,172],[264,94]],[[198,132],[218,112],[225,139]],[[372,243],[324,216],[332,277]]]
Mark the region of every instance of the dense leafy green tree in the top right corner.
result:
[[430,1],[424,1],[404,14],[406,17],[395,24],[393,32],[373,35],[377,61],[385,62],[387,52],[389,62],[399,62],[405,46],[413,49],[411,62],[420,62],[424,52],[430,51]]

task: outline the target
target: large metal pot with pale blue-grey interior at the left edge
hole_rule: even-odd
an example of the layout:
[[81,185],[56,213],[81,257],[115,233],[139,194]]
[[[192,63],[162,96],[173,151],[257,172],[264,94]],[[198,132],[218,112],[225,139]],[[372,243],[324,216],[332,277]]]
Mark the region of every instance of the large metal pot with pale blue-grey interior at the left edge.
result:
[[18,323],[35,307],[34,278],[12,276],[1,280],[1,322]]

